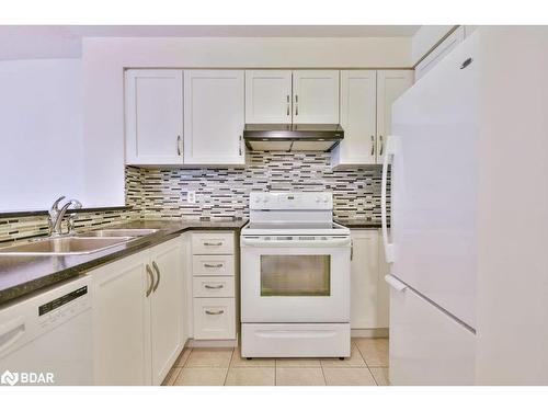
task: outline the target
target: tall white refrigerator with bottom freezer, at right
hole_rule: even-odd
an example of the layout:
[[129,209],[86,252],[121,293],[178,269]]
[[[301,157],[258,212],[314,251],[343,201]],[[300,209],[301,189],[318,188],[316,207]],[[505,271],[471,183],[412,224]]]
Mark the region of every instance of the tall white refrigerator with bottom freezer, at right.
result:
[[478,50],[472,35],[392,107],[383,170],[392,385],[475,381]]

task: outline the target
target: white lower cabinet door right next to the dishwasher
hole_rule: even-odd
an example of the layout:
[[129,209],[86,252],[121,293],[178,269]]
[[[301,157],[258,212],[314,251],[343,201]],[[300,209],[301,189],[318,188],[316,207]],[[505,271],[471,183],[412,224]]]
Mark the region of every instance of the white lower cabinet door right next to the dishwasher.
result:
[[94,271],[96,385],[150,385],[150,282],[142,253]]

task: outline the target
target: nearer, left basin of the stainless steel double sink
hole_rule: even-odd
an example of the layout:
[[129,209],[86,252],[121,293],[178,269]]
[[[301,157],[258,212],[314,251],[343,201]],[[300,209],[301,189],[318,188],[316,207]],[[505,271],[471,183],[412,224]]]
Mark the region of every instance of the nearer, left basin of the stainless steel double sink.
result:
[[58,237],[26,244],[0,249],[0,254],[9,255],[71,255],[91,254],[133,240],[132,237]]

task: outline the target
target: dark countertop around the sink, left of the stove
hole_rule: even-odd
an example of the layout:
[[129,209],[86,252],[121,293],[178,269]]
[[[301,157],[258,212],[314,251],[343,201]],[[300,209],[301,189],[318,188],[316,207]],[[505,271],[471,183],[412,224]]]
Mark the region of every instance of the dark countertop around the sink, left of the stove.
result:
[[237,230],[247,220],[138,220],[103,228],[156,228],[158,232],[107,250],[80,255],[0,255],[0,306],[105,263],[160,244],[189,230]]

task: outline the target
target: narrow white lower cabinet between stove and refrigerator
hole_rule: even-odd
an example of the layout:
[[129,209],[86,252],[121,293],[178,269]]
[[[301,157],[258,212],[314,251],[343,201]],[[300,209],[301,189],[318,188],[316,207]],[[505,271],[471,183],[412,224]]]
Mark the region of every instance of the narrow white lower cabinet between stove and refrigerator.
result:
[[351,328],[388,328],[388,264],[378,230],[353,229],[351,261]]

